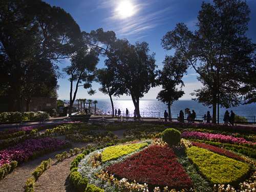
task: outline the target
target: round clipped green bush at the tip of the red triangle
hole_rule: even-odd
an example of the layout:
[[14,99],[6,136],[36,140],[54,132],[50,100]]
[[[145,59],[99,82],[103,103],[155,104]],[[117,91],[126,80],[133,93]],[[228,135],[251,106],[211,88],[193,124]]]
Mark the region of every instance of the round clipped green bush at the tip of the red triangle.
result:
[[162,133],[162,139],[169,146],[178,144],[180,142],[180,132],[176,129],[166,129]]

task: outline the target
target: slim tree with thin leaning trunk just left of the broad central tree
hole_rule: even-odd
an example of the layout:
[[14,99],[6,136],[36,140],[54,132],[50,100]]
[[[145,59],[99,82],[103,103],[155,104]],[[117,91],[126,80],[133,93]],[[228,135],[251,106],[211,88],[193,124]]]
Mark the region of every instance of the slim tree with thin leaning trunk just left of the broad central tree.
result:
[[112,106],[112,117],[114,117],[114,104],[112,100],[112,95],[115,93],[115,78],[113,70],[99,69],[97,71],[97,81],[101,84],[99,91],[104,94],[108,94]]

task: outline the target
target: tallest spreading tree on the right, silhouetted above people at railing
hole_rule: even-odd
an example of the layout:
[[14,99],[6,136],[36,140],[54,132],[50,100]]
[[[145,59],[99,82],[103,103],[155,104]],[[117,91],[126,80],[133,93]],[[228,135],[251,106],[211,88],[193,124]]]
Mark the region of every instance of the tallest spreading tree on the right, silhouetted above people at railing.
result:
[[175,49],[199,74],[203,88],[194,95],[199,102],[212,105],[214,123],[217,105],[219,112],[219,105],[229,108],[242,102],[240,77],[252,70],[255,51],[246,37],[248,21],[249,8],[244,1],[214,0],[214,5],[202,3],[197,30],[191,32],[180,23],[162,39],[166,50]]

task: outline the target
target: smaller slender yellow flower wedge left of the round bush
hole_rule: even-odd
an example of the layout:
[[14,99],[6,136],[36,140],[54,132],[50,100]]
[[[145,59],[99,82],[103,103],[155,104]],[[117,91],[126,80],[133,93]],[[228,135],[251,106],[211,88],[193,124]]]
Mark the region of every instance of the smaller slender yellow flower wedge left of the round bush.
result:
[[124,144],[116,145],[105,148],[102,152],[102,162],[109,160],[117,159],[123,155],[130,154],[139,150],[142,147],[147,146],[147,143],[133,143],[133,144]]

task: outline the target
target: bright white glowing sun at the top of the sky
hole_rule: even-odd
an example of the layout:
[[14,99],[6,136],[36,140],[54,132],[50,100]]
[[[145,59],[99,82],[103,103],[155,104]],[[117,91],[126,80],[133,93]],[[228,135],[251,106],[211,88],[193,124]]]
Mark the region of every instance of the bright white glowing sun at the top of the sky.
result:
[[135,6],[131,1],[121,1],[116,8],[117,16],[119,18],[131,17],[135,14]]

